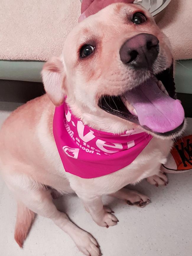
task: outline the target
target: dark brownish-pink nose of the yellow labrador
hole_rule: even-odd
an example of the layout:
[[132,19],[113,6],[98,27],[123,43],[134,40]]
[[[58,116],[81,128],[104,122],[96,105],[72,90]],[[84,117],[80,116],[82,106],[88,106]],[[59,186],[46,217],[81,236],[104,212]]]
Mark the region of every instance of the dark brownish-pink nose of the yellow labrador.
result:
[[158,53],[159,40],[147,33],[128,39],[119,51],[121,61],[136,68],[150,68]]

